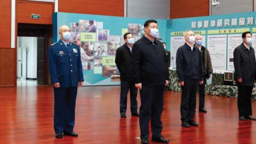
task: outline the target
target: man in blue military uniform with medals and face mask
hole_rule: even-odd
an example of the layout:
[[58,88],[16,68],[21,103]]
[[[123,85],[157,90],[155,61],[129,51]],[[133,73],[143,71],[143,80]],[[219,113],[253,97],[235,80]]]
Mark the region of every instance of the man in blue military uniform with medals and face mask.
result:
[[77,86],[83,85],[84,78],[79,46],[69,42],[69,27],[61,26],[59,34],[59,42],[50,46],[48,61],[54,90],[55,137],[61,139],[63,135],[78,137],[73,132],[76,95]]

